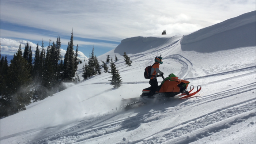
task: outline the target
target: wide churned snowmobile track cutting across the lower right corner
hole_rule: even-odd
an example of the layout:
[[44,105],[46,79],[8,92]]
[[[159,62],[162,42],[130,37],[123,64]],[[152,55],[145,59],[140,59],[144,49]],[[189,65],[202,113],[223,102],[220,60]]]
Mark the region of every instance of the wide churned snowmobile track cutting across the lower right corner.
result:
[[[230,128],[231,126],[237,125],[240,122],[244,122],[248,119],[251,119],[252,117],[255,117],[255,115],[256,115],[255,114],[255,106],[256,106],[256,102],[253,101],[253,102],[250,102],[250,103],[242,105],[242,106],[232,107],[232,108],[224,110],[224,111],[217,111],[216,113],[213,113],[210,115],[207,114],[205,117],[199,118],[199,119],[195,120],[194,122],[189,122],[187,124],[179,126],[179,128],[174,128],[172,130],[166,131],[165,133],[157,134],[160,136],[153,136],[153,137],[145,140],[143,142],[143,144],[152,144],[152,142],[153,142],[153,144],[158,144],[158,143],[163,143],[166,141],[167,141],[167,143],[172,143],[169,140],[172,140],[176,137],[180,137],[183,135],[186,135],[187,139],[184,139],[183,141],[179,141],[179,143],[182,143],[182,144],[191,143],[193,141],[202,139],[204,137],[211,136],[214,133],[220,132],[222,129]],[[246,112],[248,112],[248,113],[246,113]],[[238,120],[236,118],[234,118],[234,119],[232,118],[236,115],[244,114],[244,113],[246,113],[246,115],[243,115]],[[209,126],[214,123],[218,123],[223,120],[230,119],[230,118],[233,119],[231,122],[227,122],[227,123],[218,125],[216,127],[209,128],[205,131],[204,130],[199,131],[196,134],[193,134],[193,136],[189,136],[189,133],[192,133],[193,131],[195,131],[197,129],[202,129],[206,126]]]

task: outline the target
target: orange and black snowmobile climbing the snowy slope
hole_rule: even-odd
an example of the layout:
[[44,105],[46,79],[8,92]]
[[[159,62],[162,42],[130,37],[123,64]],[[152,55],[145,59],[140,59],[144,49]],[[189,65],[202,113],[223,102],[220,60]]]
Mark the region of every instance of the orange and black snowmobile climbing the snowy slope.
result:
[[[178,77],[176,75],[174,75],[173,73],[171,73],[168,77],[163,77],[163,75],[161,75],[163,81],[162,83],[158,86],[157,91],[155,92],[155,94],[153,96],[150,96],[150,90],[151,87],[148,88],[144,88],[142,90],[142,94],[140,95],[140,97],[138,98],[130,98],[130,99],[122,99],[123,101],[123,107],[125,109],[130,109],[132,105],[134,104],[138,104],[138,106],[140,105],[144,105],[145,103],[147,103],[148,100],[151,99],[167,99],[170,97],[174,97],[174,96],[178,96],[180,99],[188,99],[188,98],[193,98],[195,97],[194,95],[197,94],[197,92],[199,92],[201,90],[201,86],[197,86],[197,91],[190,93],[191,91],[193,91],[194,86],[190,87],[190,91],[187,90],[188,88],[188,84],[190,82],[188,82],[187,80],[181,80],[178,79]],[[180,94],[180,95],[179,95]],[[186,96],[184,96],[186,95]],[[181,97],[183,96],[183,97]]]

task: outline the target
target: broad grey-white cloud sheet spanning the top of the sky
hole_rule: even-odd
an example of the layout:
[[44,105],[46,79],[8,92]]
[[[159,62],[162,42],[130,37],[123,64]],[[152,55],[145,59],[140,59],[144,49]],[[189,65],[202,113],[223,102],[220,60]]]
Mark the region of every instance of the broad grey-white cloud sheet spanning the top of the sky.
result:
[[[190,33],[196,27],[255,10],[255,0],[13,1],[1,1],[1,20],[63,35],[70,35],[74,28],[77,37],[119,42],[127,37],[161,34],[163,29],[169,34]],[[170,27],[175,24],[181,24],[180,28]],[[6,35],[1,30],[1,37]]]

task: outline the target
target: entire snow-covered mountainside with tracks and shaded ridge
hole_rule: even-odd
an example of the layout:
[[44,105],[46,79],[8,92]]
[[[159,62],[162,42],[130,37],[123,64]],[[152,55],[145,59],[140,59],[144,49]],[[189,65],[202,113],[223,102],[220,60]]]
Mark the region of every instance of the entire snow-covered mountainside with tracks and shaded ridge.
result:
[[[27,110],[0,120],[1,144],[188,144],[256,143],[256,12],[225,20],[189,35],[123,39],[106,55],[115,62],[123,85],[112,89],[103,73],[73,85]],[[132,66],[122,56],[126,52]],[[197,98],[170,98],[135,109],[121,99],[149,87],[144,68],[162,54],[160,70],[194,86]],[[108,64],[109,65],[109,64]],[[82,75],[82,67],[78,74]],[[161,79],[158,78],[158,82]]]

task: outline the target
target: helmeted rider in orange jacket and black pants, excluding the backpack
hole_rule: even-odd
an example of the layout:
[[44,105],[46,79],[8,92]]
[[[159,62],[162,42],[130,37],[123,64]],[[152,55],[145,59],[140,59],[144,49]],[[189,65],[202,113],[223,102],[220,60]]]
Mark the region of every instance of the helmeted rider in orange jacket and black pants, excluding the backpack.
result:
[[[162,62],[162,54],[160,55],[160,57],[155,57],[155,63],[152,65],[151,67],[151,72],[150,72],[150,81],[149,84],[151,85],[151,89],[150,89],[150,95],[148,97],[153,96],[153,94],[155,94],[155,91],[157,91],[157,77],[163,75],[163,72],[161,72],[159,70],[159,64],[163,64]],[[159,73],[160,75],[158,75],[157,73]]]

